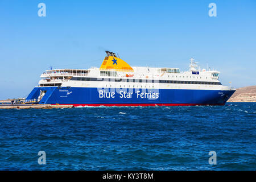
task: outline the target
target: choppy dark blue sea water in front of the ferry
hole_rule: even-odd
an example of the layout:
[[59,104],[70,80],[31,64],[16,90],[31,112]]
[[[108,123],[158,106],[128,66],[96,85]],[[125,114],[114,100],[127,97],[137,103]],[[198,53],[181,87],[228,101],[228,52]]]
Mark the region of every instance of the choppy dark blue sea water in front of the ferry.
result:
[[255,170],[255,126],[253,103],[0,110],[0,169]]

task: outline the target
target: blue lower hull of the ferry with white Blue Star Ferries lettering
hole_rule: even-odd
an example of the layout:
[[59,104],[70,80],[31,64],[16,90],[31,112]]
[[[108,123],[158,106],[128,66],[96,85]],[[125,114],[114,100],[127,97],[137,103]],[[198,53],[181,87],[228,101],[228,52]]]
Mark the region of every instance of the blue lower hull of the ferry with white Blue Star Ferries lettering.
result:
[[[156,94],[148,96],[150,89],[110,89],[98,92],[97,88],[57,88],[35,87],[28,95],[27,100],[37,100],[40,91],[46,94],[39,104],[67,104],[73,106],[155,106],[155,105],[225,105],[235,90],[188,90],[188,89],[159,89]],[[112,90],[114,90],[112,92]],[[115,91],[118,90],[118,91]],[[123,91],[122,91],[123,90]],[[126,93],[126,94],[125,94]],[[147,97],[146,97],[147,96]],[[109,97],[109,98],[108,98]]]

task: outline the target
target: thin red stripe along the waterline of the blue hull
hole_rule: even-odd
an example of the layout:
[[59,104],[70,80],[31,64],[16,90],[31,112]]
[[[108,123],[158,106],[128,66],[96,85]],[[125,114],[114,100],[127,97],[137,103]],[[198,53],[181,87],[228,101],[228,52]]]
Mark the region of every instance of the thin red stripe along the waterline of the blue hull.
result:
[[[73,105],[74,107],[79,106],[207,106],[209,104],[60,104],[60,105]],[[225,105],[225,104],[216,104],[216,105]]]

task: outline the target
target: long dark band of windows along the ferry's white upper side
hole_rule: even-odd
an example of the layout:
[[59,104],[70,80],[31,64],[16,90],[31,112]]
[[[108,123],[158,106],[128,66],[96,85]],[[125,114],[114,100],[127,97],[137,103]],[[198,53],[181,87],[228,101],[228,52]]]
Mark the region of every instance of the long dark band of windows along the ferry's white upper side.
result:
[[221,82],[209,81],[179,81],[179,80],[142,80],[129,78],[80,78],[73,77],[71,80],[80,81],[113,81],[113,82],[143,82],[143,83],[162,83],[162,84],[202,84],[202,85],[221,85]]

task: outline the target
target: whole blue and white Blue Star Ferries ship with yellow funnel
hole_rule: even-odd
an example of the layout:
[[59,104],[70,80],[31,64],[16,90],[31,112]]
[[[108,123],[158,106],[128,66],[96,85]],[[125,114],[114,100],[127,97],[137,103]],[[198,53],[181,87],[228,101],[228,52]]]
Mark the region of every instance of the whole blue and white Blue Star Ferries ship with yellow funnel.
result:
[[223,86],[215,70],[200,69],[191,58],[189,70],[131,67],[106,51],[101,67],[49,69],[26,103],[73,106],[225,105],[236,91]]

